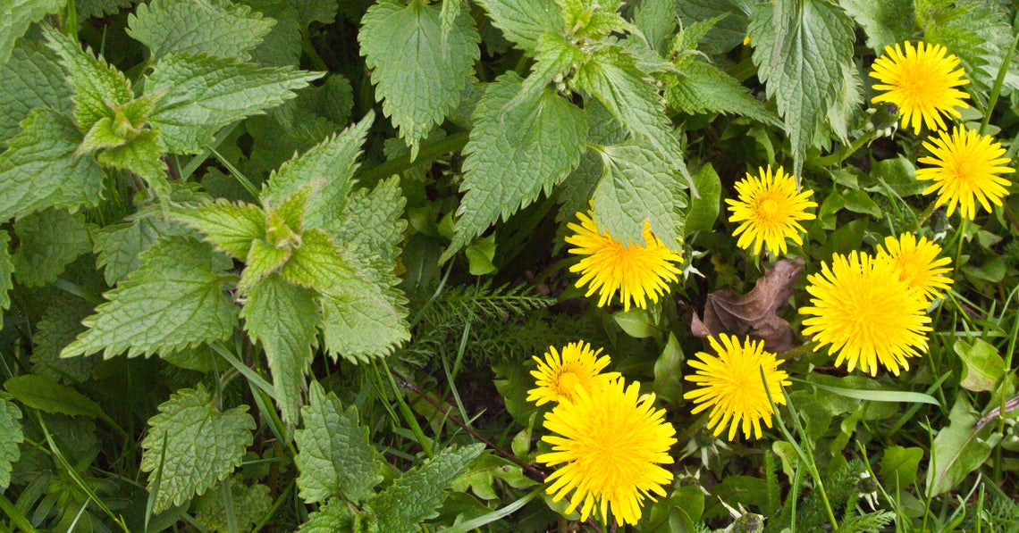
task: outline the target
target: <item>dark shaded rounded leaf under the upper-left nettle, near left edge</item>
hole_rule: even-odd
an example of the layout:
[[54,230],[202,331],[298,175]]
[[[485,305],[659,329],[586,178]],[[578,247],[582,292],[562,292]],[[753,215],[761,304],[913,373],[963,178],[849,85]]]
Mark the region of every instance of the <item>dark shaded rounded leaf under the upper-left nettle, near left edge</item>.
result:
[[14,222],[21,242],[11,256],[14,277],[26,287],[56,281],[78,255],[92,251],[88,224],[82,214],[46,210]]

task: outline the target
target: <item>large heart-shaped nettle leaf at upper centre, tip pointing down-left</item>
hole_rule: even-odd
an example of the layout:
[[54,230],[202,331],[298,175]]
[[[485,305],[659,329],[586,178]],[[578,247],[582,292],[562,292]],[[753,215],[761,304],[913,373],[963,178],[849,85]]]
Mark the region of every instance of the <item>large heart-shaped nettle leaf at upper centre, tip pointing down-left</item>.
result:
[[446,260],[491,224],[507,219],[561,182],[580,163],[587,139],[584,112],[555,91],[503,112],[521,90],[509,73],[485,90],[464,147],[464,199]]

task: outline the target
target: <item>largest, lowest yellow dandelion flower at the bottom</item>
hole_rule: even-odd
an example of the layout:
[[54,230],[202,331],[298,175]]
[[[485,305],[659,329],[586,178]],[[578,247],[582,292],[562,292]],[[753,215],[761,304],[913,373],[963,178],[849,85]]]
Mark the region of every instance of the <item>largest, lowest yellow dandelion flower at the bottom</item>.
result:
[[[553,501],[573,492],[567,513],[581,508],[581,520],[597,506],[602,522],[608,511],[615,523],[636,524],[645,497],[665,495],[662,485],[673,473],[658,465],[673,463],[668,449],[676,429],[654,409],[654,395],[640,396],[640,383],[623,379],[587,391],[576,389],[573,402],[561,402],[545,415],[552,433],[541,439],[552,451],[537,457],[548,466],[561,465],[548,476],[545,491]],[[583,505],[582,505],[583,504]]]

